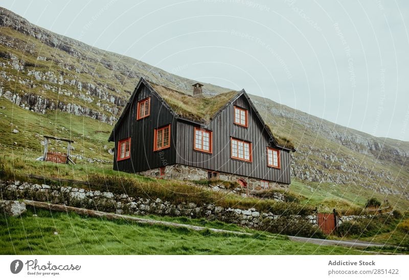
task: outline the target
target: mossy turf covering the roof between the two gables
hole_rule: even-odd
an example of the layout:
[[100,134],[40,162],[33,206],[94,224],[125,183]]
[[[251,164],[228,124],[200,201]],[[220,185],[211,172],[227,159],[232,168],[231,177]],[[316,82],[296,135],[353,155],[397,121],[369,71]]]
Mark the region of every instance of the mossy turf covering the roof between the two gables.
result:
[[200,122],[210,121],[238,93],[229,91],[214,96],[192,96],[152,82],[149,84],[176,114]]

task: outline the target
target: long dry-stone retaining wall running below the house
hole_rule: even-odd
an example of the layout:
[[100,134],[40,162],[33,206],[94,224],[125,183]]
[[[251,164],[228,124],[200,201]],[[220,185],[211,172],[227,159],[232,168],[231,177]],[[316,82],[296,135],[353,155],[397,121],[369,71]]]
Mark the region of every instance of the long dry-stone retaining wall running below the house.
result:
[[[280,215],[271,212],[261,213],[255,208],[222,208],[214,204],[196,205],[195,203],[185,202],[174,205],[157,197],[130,197],[127,194],[113,194],[111,192],[45,184],[38,185],[27,182],[20,183],[18,181],[13,183],[0,182],[0,191],[2,198],[5,200],[29,199],[118,214],[203,217],[260,230],[269,227],[270,223],[274,223],[275,220],[280,218]],[[306,220],[305,217],[299,215],[290,217],[291,219]]]

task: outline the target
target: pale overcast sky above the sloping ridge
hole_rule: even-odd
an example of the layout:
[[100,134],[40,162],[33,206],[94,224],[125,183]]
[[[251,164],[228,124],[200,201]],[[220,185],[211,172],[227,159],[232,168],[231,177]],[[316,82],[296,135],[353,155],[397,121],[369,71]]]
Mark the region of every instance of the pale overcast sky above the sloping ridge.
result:
[[8,1],[40,27],[409,140],[409,1]]

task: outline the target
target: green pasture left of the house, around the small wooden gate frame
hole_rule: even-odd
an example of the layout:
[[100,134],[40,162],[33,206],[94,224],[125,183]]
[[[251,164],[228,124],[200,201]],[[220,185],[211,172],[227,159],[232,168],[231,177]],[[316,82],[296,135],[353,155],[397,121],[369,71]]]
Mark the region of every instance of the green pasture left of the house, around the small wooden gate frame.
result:
[[[75,141],[73,155],[112,161],[107,149],[113,147],[107,139],[112,126],[88,117],[61,111],[47,111],[41,115],[22,109],[0,97],[0,135],[3,155],[31,159],[42,156],[42,135],[69,138]],[[13,129],[19,133],[12,133]],[[17,144],[14,144],[17,143]],[[104,145],[107,146],[104,149]],[[66,151],[65,142],[51,140],[49,150]],[[76,160],[86,162],[85,160]]]

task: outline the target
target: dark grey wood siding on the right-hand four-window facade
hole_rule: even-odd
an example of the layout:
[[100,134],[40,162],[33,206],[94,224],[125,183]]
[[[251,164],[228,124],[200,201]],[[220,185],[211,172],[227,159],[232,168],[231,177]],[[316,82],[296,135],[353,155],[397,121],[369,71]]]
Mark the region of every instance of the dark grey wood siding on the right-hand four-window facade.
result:
[[[233,123],[233,106],[248,110],[248,128]],[[176,163],[216,170],[225,173],[254,177],[267,181],[290,184],[290,155],[281,150],[281,168],[267,167],[267,146],[270,142],[268,133],[263,131],[262,123],[244,96],[240,96],[224,108],[206,129],[213,131],[213,154],[193,149],[195,125],[188,122],[177,123]],[[253,162],[247,163],[231,159],[231,137],[252,143]]]

